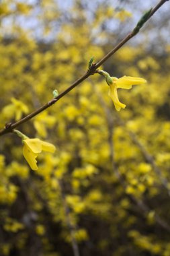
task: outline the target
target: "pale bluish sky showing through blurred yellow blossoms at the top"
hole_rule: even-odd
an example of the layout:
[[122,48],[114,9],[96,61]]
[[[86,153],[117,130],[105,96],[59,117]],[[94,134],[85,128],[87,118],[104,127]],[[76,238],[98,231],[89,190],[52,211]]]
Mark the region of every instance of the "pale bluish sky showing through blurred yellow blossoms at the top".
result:
[[[60,9],[60,11],[62,11],[63,13],[66,13],[68,11],[70,11],[71,7],[73,6],[73,3],[75,2],[75,0],[55,0],[56,1],[56,8]],[[32,11],[31,15],[25,16],[25,15],[17,15],[17,17],[13,18],[13,16],[11,16],[11,18],[7,17],[3,20],[3,26],[1,26],[1,32],[3,32],[3,34],[7,34],[7,32],[9,31],[10,33],[10,26],[12,26],[13,21],[15,22],[15,24],[17,24],[18,26],[21,26],[22,28],[24,28],[24,30],[28,30],[28,32],[30,34],[32,34],[32,36],[34,36],[35,38],[37,38],[38,40],[54,40],[56,38],[56,35],[58,33],[58,31],[60,31],[60,27],[56,26],[56,21],[51,22],[51,32],[48,35],[44,36],[44,32],[43,32],[43,24],[42,22],[40,22],[40,20],[38,20],[38,14],[40,13],[41,9],[40,9],[40,5],[38,5],[36,0],[18,0],[18,2],[23,2],[23,3],[27,3],[30,5],[34,6],[34,11]],[[91,23],[91,21],[93,20],[93,15],[95,13],[95,9],[97,8],[98,5],[100,4],[104,4],[103,5],[103,12],[104,12],[104,6],[105,5],[109,5],[111,7],[113,7],[114,9],[117,9],[117,11],[119,11],[120,9],[126,9],[127,11],[130,11],[132,13],[132,18],[128,18],[126,20],[126,22],[120,23],[120,21],[118,19],[114,19],[114,13],[113,13],[113,19],[110,20],[109,22],[107,22],[107,26],[106,29],[110,32],[116,31],[116,30],[120,30],[120,36],[121,33],[124,35],[124,33],[126,34],[126,32],[130,32],[132,30],[132,28],[134,28],[134,25],[138,22],[138,20],[140,19],[140,17],[142,16],[142,13],[144,13],[144,11],[147,11],[148,9],[150,9],[151,7],[155,6],[158,3],[158,0],[149,0],[149,1],[144,1],[144,0],[138,0],[138,1],[134,1],[134,0],[95,0],[95,1],[89,1],[89,0],[83,0],[82,1],[83,5],[85,5],[87,7],[87,20],[89,21],[89,24]],[[153,20],[154,22],[161,22],[161,13],[167,13],[167,5],[165,3],[165,5],[163,5],[163,7],[161,7],[161,9],[157,12],[156,15],[154,15],[154,19],[152,18],[151,20]],[[156,24],[157,25],[157,24]],[[151,36],[154,36],[154,28],[152,29],[153,31],[151,31]],[[165,31],[165,30],[163,30]],[[94,31],[92,32],[92,34],[94,33],[97,34],[97,32],[99,31]],[[167,32],[165,31],[166,35]],[[92,35],[93,36],[93,35]],[[136,36],[136,38],[133,40],[134,42],[140,42],[140,40],[143,38],[142,33],[140,33],[140,36]]]

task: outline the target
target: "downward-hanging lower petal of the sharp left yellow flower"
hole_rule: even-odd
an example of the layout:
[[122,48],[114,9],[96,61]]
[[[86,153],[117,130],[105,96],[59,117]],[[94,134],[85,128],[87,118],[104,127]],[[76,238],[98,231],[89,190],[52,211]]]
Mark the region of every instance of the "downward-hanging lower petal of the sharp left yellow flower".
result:
[[24,158],[26,158],[26,161],[28,162],[28,164],[30,165],[30,168],[32,168],[32,170],[38,170],[38,166],[36,165],[37,163],[36,158],[38,154],[34,154],[26,145],[24,145],[23,155],[24,155]]

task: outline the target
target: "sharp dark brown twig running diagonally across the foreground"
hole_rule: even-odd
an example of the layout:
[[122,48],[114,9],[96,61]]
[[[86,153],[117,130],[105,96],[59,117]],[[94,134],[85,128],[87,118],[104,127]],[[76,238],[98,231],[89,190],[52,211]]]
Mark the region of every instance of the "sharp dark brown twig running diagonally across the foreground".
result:
[[19,121],[15,122],[15,123],[7,123],[5,125],[5,128],[1,129],[0,135],[3,135],[5,133],[10,133],[17,126],[22,125],[22,123],[26,123],[26,121],[32,119],[33,117],[35,117],[36,115],[38,115],[39,113],[44,111],[46,108],[49,108],[54,103],[56,103],[58,100],[60,100],[60,98],[62,98],[66,94],[68,94],[71,90],[73,90],[73,88],[75,88],[76,86],[81,84],[81,82],[83,82],[85,79],[87,79],[87,77],[89,77],[90,75],[93,75],[98,67],[100,67],[112,55],[114,55],[114,53],[116,53],[126,42],[128,42],[128,40],[130,40],[132,37],[136,36],[136,34],[138,34],[140,28],[142,28],[142,26],[144,25],[144,23],[147,22],[147,20],[149,20],[153,16],[153,14],[167,1],[169,1],[169,0],[161,0],[153,9],[150,9],[149,11],[144,13],[144,15],[139,20],[138,24],[136,24],[136,26],[132,30],[132,32],[130,32],[119,44],[117,44],[114,47],[114,49],[112,49],[112,51],[110,51],[110,53],[105,55],[103,57],[103,59],[101,59],[101,61],[91,65],[91,68],[84,75],[82,75],[79,79],[77,79],[77,81],[75,81],[71,86],[69,86],[69,88],[67,88],[67,90],[65,90],[64,92],[62,92],[61,94],[56,96],[56,98],[53,98],[52,100],[50,100],[49,102],[47,102],[46,104],[44,104],[43,106],[41,106],[40,108],[38,108],[37,110],[32,112],[30,115],[27,115],[23,119],[20,119]]

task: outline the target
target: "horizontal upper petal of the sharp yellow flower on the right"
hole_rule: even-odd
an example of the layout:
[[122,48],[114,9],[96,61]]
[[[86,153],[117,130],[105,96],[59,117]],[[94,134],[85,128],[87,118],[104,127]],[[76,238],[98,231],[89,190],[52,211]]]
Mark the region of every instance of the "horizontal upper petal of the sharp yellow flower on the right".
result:
[[124,75],[119,79],[115,79],[115,78],[116,77],[112,77],[113,81],[116,82],[116,88],[122,88],[122,89],[130,89],[134,85],[146,83],[146,80],[140,77],[132,77],[132,76]]

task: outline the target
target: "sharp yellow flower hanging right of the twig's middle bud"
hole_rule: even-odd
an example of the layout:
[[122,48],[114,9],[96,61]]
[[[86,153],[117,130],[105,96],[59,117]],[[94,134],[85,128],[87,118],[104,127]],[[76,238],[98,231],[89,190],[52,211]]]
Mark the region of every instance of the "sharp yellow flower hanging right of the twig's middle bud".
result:
[[118,88],[122,88],[122,89],[131,89],[132,86],[137,85],[137,84],[144,84],[146,83],[146,80],[140,77],[131,77],[131,76],[126,76],[124,75],[123,77],[117,78],[117,77],[110,77],[112,78],[109,79],[107,81],[109,86],[110,86],[110,90],[109,90],[109,96],[110,98],[112,98],[113,102],[114,102],[114,106],[116,108],[117,111],[120,111],[121,108],[125,108],[126,105],[121,103],[119,101],[118,98],[118,92],[117,89]]

